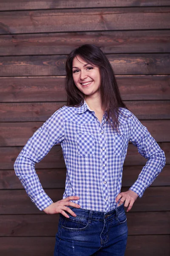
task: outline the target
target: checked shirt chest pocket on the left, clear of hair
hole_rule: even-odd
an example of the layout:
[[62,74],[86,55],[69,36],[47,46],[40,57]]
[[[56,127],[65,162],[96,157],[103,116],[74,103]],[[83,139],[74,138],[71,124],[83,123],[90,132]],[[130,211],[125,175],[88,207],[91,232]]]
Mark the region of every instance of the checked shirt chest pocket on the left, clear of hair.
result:
[[94,136],[89,133],[77,134],[77,150],[82,156],[94,154]]

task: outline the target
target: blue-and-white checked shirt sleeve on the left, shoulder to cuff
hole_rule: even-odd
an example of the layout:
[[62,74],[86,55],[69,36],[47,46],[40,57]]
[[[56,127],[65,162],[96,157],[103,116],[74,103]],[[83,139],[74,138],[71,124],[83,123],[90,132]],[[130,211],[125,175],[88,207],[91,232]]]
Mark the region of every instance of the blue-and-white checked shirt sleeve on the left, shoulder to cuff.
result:
[[31,201],[43,210],[53,201],[45,193],[35,171],[50,149],[64,140],[65,129],[60,108],[33,134],[14,162],[14,170]]

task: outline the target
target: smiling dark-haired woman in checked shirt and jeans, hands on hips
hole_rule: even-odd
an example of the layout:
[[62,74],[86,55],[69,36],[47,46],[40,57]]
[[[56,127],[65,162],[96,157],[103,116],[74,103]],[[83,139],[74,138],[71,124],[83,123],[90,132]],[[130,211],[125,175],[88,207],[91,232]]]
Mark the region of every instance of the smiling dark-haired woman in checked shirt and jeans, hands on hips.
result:
[[[110,62],[99,47],[85,44],[66,61],[67,106],[33,134],[14,163],[31,201],[47,214],[60,214],[54,256],[123,256],[127,212],[159,175],[164,152],[122,102]],[[128,142],[147,158],[138,179],[121,191]],[[35,172],[60,143],[67,168],[65,192],[53,202]]]

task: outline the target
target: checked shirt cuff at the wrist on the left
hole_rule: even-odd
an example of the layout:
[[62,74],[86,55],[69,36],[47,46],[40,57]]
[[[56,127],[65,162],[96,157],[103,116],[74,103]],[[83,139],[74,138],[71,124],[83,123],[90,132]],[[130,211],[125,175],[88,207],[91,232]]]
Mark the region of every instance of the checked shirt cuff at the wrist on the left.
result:
[[51,198],[45,192],[41,193],[40,195],[37,195],[36,198],[32,198],[31,194],[28,192],[28,196],[31,198],[31,201],[40,211],[42,211],[43,209],[45,209],[46,207],[53,203]]

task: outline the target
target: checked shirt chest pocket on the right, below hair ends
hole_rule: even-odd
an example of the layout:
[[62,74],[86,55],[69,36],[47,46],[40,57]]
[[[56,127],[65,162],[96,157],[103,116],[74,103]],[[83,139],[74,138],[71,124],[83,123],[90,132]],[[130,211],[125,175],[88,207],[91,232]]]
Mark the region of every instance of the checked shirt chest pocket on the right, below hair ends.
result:
[[127,138],[125,134],[114,135],[114,154],[122,156],[126,153]]

